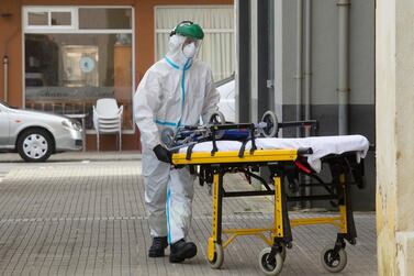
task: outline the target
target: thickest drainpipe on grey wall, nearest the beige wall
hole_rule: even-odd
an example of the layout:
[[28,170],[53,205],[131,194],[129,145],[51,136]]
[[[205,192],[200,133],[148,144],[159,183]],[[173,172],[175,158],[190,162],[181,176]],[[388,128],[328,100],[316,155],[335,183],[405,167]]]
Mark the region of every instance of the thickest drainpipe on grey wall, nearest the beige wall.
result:
[[348,134],[349,102],[349,8],[350,0],[337,0],[339,20],[338,45],[338,130],[339,135]]

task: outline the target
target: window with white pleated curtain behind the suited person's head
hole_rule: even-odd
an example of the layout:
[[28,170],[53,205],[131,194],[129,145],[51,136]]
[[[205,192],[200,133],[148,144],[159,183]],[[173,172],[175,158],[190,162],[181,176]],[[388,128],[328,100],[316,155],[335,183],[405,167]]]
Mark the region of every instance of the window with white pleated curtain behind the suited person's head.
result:
[[160,59],[167,53],[171,30],[179,22],[190,20],[200,24],[204,30],[204,40],[198,57],[211,66],[214,80],[227,78],[234,73],[233,5],[157,7],[155,16],[156,59]]

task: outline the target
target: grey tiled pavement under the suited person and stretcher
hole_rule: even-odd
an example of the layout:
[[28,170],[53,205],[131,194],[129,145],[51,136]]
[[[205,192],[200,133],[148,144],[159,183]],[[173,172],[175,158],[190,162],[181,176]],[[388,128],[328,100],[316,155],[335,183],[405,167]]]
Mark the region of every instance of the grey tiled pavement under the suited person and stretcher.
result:
[[[0,164],[1,166],[1,164]],[[150,243],[138,161],[45,164],[12,169],[0,183],[0,273],[2,275],[261,275],[265,243],[239,238],[225,250],[221,271],[205,262],[211,200],[197,185],[190,239],[195,258],[169,264],[146,256]],[[240,176],[230,186],[239,187]],[[244,185],[244,184],[243,184]],[[295,212],[291,218],[321,216]],[[271,201],[265,197],[224,200],[224,227],[268,227]],[[357,213],[358,244],[347,246],[348,265],[339,275],[376,275],[372,213]],[[332,225],[293,230],[293,249],[281,275],[329,275],[320,251],[332,244]]]

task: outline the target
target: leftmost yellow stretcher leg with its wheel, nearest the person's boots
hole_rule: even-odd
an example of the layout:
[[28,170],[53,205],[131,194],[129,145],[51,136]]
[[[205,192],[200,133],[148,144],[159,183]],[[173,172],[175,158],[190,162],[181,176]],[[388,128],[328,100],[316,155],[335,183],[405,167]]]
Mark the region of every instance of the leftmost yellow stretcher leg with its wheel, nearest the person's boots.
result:
[[212,235],[209,238],[208,258],[210,266],[219,269],[224,261],[222,246],[222,201],[223,174],[216,172],[213,176],[213,213]]

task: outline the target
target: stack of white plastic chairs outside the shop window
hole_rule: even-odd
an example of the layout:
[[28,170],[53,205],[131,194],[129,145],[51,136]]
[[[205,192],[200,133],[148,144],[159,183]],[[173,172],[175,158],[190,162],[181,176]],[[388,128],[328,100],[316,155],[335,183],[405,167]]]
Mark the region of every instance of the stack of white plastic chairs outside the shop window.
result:
[[100,134],[118,133],[119,151],[122,150],[122,115],[124,107],[118,107],[116,100],[104,98],[93,106],[93,126],[97,130],[97,148],[99,152]]

